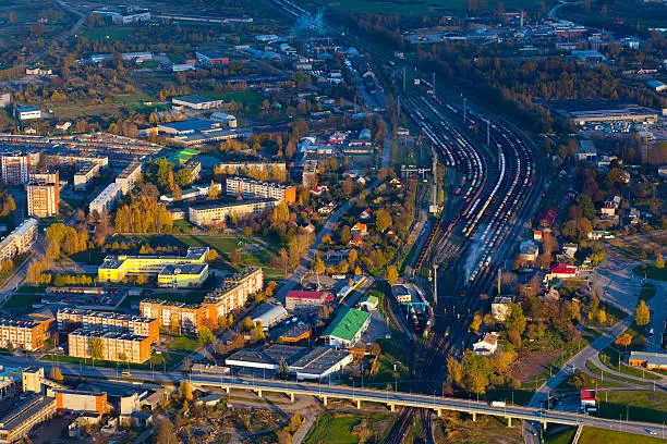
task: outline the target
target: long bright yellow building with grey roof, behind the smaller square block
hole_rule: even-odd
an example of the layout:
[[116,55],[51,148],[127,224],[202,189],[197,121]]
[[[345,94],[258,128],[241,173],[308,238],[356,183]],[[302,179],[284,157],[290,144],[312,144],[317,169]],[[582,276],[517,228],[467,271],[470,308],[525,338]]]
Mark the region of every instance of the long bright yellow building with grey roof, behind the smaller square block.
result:
[[205,263],[207,254],[207,247],[190,247],[185,256],[107,256],[97,279],[121,282],[128,274],[159,274],[169,264]]

